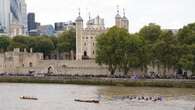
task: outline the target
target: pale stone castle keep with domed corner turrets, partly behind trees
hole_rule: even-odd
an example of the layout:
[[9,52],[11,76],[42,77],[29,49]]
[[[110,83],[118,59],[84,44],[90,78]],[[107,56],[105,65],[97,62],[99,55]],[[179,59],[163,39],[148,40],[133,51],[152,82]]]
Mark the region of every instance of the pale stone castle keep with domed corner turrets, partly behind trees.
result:
[[[100,16],[89,20],[86,27],[83,26],[83,19],[80,15],[76,18],[76,60],[95,59],[96,56],[96,37],[106,32],[109,28],[105,27],[104,19]],[[129,20],[125,16],[120,16],[119,10],[115,16],[115,26],[129,30]]]

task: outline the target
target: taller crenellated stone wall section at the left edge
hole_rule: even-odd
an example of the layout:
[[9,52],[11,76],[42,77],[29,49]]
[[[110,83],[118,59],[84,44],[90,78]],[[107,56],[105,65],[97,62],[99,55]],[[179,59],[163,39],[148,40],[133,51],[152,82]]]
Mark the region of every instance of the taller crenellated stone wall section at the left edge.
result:
[[0,72],[15,72],[20,68],[33,67],[40,64],[43,59],[42,53],[20,52],[20,49],[14,49],[11,52],[0,54]]

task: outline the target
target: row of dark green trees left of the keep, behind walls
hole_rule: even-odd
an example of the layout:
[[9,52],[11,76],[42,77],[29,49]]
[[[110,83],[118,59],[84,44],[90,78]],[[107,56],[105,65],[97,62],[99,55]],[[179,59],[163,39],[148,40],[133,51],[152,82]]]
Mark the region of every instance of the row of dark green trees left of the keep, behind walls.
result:
[[0,37],[1,51],[13,50],[14,48],[33,48],[34,52],[42,52],[49,56],[51,52],[76,51],[76,31],[71,29],[63,32],[58,37],[48,36],[15,36],[12,39],[7,36]]

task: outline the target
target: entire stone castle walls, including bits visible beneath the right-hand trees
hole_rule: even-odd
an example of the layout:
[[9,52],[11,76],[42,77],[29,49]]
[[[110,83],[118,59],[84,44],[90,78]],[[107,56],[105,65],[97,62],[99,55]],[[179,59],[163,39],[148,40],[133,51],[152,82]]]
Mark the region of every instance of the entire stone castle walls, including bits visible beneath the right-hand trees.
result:
[[[147,73],[163,73],[163,70],[150,67]],[[94,60],[43,60],[42,53],[13,52],[0,54],[0,73],[48,73],[66,75],[109,75],[106,66],[99,66]],[[122,72],[117,71],[118,74]],[[132,70],[130,74],[142,75],[141,70]],[[175,74],[174,70],[167,74]]]

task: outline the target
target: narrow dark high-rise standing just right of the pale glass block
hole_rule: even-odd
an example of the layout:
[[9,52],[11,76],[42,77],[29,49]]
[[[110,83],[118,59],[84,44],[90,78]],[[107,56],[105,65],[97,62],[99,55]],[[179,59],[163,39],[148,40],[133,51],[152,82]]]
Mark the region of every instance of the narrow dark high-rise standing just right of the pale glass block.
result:
[[28,13],[28,31],[36,29],[35,13]]

